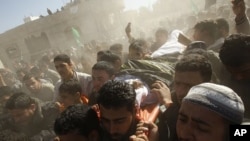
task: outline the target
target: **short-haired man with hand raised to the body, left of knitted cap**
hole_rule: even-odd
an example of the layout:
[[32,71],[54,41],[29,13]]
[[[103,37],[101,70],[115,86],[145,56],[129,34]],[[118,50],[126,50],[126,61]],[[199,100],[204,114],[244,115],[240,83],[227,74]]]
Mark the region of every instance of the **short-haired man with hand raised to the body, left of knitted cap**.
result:
[[189,54],[181,58],[175,66],[172,95],[163,82],[158,81],[152,85],[151,92],[158,95],[160,103],[167,109],[159,116],[160,141],[176,139],[175,126],[182,99],[192,86],[209,82],[211,76],[209,61],[202,55]]

